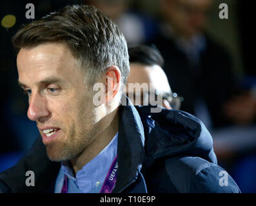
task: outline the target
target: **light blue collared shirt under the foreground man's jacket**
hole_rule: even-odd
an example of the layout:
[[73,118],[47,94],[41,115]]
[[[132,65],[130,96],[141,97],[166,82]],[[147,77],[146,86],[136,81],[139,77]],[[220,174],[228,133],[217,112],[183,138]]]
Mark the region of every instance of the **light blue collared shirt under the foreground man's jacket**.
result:
[[64,174],[68,177],[68,193],[98,193],[117,155],[117,138],[118,132],[101,153],[77,171],[76,176],[69,161],[61,162],[61,169],[55,182],[55,193],[61,192]]

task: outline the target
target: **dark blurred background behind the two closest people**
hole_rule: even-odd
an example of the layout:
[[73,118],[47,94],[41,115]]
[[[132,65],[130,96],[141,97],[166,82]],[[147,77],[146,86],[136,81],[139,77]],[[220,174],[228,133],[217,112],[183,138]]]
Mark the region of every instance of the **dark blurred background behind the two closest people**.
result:
[[[162,53],[170,86],[184,98],[181,110],[210,130],[219,165],[242,192],[256,192],[256,70],[252,1],[242,0],[84,0],[1,1],[0,6],[0,172],[12,167],[39,132],[26,117],[27,97],[17,84],[12,36],[26,19],[35,20],[65,5],[86,4],[110,15],[128,46],[148,44]],[[219,5],[228,5],[220,19]]]

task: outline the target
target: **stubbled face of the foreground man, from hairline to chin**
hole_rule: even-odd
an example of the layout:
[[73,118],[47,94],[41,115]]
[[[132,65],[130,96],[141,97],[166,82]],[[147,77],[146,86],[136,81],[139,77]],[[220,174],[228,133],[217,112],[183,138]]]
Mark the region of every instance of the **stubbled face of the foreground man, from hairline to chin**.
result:
[[71,160],[94,140],[97,123],[92,91],[65,44],[22,48],[19,84],[28,93],[28,118],[37,122],[50,160]]

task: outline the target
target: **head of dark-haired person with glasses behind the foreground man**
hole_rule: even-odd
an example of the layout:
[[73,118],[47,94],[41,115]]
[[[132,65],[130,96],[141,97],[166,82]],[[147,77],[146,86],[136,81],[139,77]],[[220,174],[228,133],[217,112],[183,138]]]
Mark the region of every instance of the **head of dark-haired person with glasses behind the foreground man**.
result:
[[[128,75],[126,84],[126,95],[130,98],[135,105],[135,91],[128,84],[139,83],[143,85],[146,83],[147,88],[153,89],[150,93],[139,93],[139,99],[141,99],[141,105],[143,102],[149,102],[149,95],[158,95],[162,98],[162,105],[166,109],[179,109],[181,106],[181,98],[177,96],[177,93],[173,93],[170,88],[170,84],[166,77],[166,74],[162,70],[164,65],[164,59],[161,53],[153,47],[139,45],[128,48],[130,57],[130,73]],[[148,98],[145,100],[144,98]],[[153,97],[155,98],[155,97]]]

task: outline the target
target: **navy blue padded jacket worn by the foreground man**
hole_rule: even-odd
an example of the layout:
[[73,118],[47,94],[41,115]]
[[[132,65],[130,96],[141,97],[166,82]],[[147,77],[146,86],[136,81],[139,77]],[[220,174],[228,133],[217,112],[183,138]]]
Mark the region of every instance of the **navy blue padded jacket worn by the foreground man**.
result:
[[[120,106],[117,182],[113,192],[241,192],[217,165],[213,140],[204,124],[179,110]],[[11,169],[0,173],[1,192],[54,192],[59,162],[46,155],[41,137]],[[35,173],[27,187],[26,171]]]

